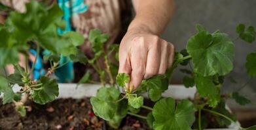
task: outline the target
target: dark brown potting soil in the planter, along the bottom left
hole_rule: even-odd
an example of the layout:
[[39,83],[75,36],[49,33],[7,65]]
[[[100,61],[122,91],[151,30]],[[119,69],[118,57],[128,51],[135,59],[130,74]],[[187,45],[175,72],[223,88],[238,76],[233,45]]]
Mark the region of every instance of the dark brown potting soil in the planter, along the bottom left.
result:
[[[1,99],[0,99],[1,100]],[[84,99],[56,99],[52,103],[39,105],[27,101],[27,116],[21,117],[16,112],[13,104],[3,105],[0,101],[0,129],[95,129],[105,127],[111,129],[92,112],[92,106],[88,98]],[[105,127],[104,127],[105,125]],[[134,116],[127,116],[122,121],[122,130],[149,129],[145,120],[139,120]]]

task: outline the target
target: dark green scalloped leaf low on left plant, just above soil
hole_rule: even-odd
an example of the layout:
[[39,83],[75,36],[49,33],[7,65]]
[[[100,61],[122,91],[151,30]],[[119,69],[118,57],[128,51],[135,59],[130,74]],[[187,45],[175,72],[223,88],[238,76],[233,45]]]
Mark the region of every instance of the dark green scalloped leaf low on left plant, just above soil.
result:
[[59,95],[59,88],[56,79],[48,77],[41,77],[40,82],[43,84],[39,86],[38,90],[32,88],[32,99],[35,103],[45,104],[56,99]]

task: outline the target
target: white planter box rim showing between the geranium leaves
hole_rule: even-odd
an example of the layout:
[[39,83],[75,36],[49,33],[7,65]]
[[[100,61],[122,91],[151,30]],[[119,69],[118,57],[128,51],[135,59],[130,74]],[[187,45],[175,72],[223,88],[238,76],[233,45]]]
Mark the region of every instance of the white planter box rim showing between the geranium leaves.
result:
[[[73,83],[60,83],[59,84],[59,96],[58,98],[73,98],[81,99],[85,97],[96,96],[98,88],[101,85],[97,84],[81,84],[76,88],[77,84]],[[20,90],[18,86],[14,86],[14,92]],[[185,88],[183,85],[170,85],[162,96],[172,97],[175,99],[187,99],[194,98],[196,88]],[[147,97],[147,94],[143,94]],[[239,127],[232,123],[227,129],[206,129],[206,130],[239,130]]]

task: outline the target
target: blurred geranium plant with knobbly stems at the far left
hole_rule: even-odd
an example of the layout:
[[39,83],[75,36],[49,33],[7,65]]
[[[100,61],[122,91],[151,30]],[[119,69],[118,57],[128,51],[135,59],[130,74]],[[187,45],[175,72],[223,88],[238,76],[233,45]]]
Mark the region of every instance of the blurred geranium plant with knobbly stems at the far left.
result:
[[[15,70],[10,75],[7,75],[7,72],[1,73],[0,92],[3,96],[3,104],[13,102],[22,116],[26,115],[24,103],[28,98],[35,103],[45,104],[58,97],[58,83],[49,75],[61,67],[60,55],[71,57],[80,53],[77,46],[84,42],[81,34],[73,31],[62,35],[57,33],[58,28],[65,27],[62,16],[63,12],[58,5],[45,6],[32,1],[27,3],[26,12],[12,11],[5,24],[0,25],[0,66],[5,70],[5,66],[12,64]],[[50,62],[50,68],[37,81],[31,78],[35,63],[29,72],[29,44],[36,46],[35,61],[39,57],[41,48],[51,52],[44,57]],[[22,67],[18,64],[19,55],[26,57],[24,61],[26,66]],[[20,91],[12,90],[15,84],[20,86]]]

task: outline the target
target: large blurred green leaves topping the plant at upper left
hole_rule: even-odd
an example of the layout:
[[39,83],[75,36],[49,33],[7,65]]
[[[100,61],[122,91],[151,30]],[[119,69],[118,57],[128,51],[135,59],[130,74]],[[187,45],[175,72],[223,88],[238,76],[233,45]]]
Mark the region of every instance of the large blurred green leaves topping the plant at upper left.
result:
[[63,12],[58,5],[45,8],[31,1],[27,3],[26,10],[25,13],[11,12],[7,19],[7,27],[13,36],[14,44],[26,44],[29,40],[35,40],[55,54],[77,53],[77,45],[83,44],[83,36],[77,32],[58,35],[57,28],[63,23]]

